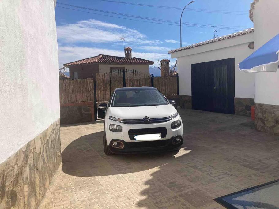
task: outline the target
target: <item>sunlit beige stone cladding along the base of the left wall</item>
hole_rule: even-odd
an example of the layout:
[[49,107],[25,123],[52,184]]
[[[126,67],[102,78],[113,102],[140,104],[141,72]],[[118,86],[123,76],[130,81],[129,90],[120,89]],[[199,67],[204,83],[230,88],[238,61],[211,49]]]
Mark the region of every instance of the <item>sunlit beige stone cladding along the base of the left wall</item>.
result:
[[60,163],[58,119],[0,164],[0,208],[37,208]]

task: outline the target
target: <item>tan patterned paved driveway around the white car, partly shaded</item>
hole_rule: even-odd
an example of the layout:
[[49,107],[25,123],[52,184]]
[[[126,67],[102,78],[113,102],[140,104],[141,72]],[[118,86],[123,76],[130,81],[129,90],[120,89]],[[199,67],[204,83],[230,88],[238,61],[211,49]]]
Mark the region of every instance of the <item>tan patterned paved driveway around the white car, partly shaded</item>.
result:
[[102,122],[62,127],[62,164],[40,208],[218,208],[215,197],[279,178],[278,137],[250,118],[179,113],[178,153],[108,157]]

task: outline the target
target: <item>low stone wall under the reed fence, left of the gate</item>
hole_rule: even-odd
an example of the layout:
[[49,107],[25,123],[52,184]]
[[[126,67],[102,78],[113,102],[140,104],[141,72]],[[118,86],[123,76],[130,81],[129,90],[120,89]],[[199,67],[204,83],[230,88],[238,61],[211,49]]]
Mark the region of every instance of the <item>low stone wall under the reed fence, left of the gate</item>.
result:
[[92,121],[90,105],[60,106],[60,121],[61,124],[85,123]]

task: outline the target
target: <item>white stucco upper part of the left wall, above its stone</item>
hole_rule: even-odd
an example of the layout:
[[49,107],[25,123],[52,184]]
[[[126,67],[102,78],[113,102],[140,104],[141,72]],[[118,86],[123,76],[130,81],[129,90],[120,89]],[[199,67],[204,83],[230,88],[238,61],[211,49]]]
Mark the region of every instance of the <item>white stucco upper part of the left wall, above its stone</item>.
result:
[[0,1],[0,163],[60,117],[54,3]]

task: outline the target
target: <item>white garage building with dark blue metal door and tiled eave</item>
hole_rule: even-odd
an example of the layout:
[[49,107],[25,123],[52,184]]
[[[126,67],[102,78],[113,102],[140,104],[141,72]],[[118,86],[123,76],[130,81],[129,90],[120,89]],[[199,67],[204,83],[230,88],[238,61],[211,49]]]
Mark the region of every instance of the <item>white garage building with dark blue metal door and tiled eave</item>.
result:
[[249,28],[169,51],[179,65],[181,106],[250,115],[255,76],[237,65],[254,52],[253,42],[254,29]]

